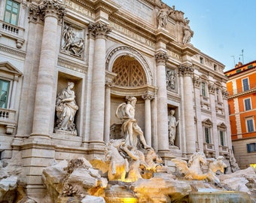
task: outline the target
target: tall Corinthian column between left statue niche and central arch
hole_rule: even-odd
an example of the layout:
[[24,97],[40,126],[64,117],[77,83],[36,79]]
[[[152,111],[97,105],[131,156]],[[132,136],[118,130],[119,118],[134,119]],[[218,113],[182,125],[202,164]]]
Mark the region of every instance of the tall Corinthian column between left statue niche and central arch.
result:
[[92,98],[90,111],[90,143],[100,144],[104,135],[105,108],[105,41],[111,29],[103,23],[89,25],[91,35],[95,36]]

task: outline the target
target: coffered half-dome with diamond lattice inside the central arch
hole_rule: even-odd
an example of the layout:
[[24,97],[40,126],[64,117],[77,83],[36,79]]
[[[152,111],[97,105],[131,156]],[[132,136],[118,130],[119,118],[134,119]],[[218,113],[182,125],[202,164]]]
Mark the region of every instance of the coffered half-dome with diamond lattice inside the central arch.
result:
[[142,65],[133,56],[119,56],[113,64],[112,72],[117,74],[113,80],[116,86],[136,87],[147,84]]

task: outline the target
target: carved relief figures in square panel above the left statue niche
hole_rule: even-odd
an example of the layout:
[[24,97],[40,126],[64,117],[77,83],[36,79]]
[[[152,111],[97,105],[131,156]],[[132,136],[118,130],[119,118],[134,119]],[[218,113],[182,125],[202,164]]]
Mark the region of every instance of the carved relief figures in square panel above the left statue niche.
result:
[[62,35],[64,44],[62,50],[66,53],[81,57],[84,52],[84,39],[77,38],[76,35],[77,33],[74,32],[72,26],[68,26],[67,24],[64,26]]

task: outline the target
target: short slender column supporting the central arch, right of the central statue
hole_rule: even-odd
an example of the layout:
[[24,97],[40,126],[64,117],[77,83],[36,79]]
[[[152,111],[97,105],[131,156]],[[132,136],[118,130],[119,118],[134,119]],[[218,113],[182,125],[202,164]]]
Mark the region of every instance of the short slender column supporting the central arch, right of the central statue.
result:
[[149,146],[152,146],[151,139],[151,99],[154,98],[153,94],[149,92],[145,95],[142,95],[142,98],[145,100],[145,140]]

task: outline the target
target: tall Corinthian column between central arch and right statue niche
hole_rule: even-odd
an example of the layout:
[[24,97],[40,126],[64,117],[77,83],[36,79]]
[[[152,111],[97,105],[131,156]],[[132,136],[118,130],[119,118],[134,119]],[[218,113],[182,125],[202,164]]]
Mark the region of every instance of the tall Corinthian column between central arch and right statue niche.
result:
[[168,56],[162,51],[157,53],[157,140],[159,151],[169,151],[168,141],[168,112],[166,90],[166,61]]

